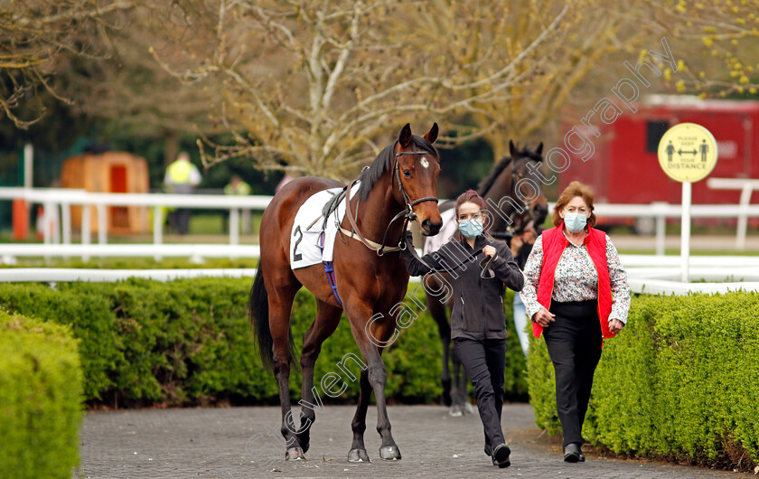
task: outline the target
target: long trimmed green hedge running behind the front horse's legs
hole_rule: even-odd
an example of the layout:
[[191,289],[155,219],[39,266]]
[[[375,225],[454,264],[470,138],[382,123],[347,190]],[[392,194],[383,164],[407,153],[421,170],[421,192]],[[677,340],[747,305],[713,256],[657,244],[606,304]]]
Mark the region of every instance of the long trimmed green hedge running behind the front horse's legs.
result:
[[[0,285],[0,305],[23,315],[70,324],[80,339],[85,397],[90,404],[132,406],[278,403],[272,372],[261,365],[247,318],[250,279],[195,278],[171,282],[130,279],[118,283]],[[421,289],[421,288],[420,288]],[[511,296],[504,301],[511,305]],[[418,302],[425,304],[420,296]],[[408,305],[417,310],[414,302]],[[511,317],[511,307],[506,308]],[[295,298],[295,350],[316,314],[314,297]],[[510,322],[511,323],[511,322]],[[525,399],[525,360],[511,327],[507,352],[507,397]],[[343,317],[323,344],[314,384],[347,352],[361,357]],[[388,397],[397,402],[437,402],[441,343],[427,313],[421,314],[383,355]],[[290,388],[300,398],[302,376],[291,373]],[[344,400],[358,397],[349,381]]]

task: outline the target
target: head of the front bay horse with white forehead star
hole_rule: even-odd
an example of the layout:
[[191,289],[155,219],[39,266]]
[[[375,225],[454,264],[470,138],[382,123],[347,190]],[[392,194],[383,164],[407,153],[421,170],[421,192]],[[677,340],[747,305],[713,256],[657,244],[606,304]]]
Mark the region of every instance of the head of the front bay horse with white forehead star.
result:
[[437,209],[437,174],[440,173],[440,155],[432,144],[437,139],[437,124],[424,137],[411,133],[407,123],[401,128],[394,149],[396,158],[393,188],[396,200],[413,212],[425,236],[435,236],[443,226]]

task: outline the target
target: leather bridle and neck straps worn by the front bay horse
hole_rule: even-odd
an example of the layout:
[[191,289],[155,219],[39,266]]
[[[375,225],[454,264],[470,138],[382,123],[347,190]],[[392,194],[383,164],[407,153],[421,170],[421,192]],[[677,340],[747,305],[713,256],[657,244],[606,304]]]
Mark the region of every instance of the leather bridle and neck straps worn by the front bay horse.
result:
[[[353,185],[358,182],[358,178],[353,180],[351,184],[348,185],[348,187],[345,190],[345,216],[348,218],[348,222],[351,223],[351,229],[352,231],[345,230],[343,228],[340,228],[341,232],[345,234],[346,236],[353,238],[354,240],[360,240],[364,246],[371,249],[372,251],[377,252],[377,256],[382,256],[387,252],[393,252],[393,251],[401,251],[403,249],[406,249],[406,242],[404,241],[404,235],[401,233],[400,239],[398,240],[398,246],[387,246],[385,241],[388,240],[388,232],[390,230],[390,227],[393,225],[394,222],[403,219],[403,229],[406,230],[406,227],[408,226],[408,221],[415,221],[417,219],[417,213],[414,212],[413,208],[417,204],[421,202],[437,202],[436,196],[425,196],[424,198],[419,198],[417,200],[411,200],[411,197],[408,196],[408,193],[406,192],[406,189],[403,187],[403,182],[400,181],[400,172],[398,171],[400,168],[398,167],[398,156],[404,156],[404,155],[429,155],[430,152],[428,151],[401,151],[396,153],[395,155],[395,164],[393,164],[393,173],[392,173],[392,179],[390,180],[390,188],[393,188],[395,186],[395,179],[396,176],[398,176],[398,189],[400,190],[401,195],[403,196],[403,201],[406,203],[406,209],[403,211],[398,212],[392,220],[388,223],[388,226],[385,228],[385,234],[382,235],[382,242],[377,243],[372,240],[367,240],[362,234],[361,230],[359,230],[358,225],[356,224],[356,221],[354,219],[354,215],[351,212],[351,189],[353,188]],[[364,170],[369,168],[369,166],[365,166]],[[359,211],[359,204],[356,203],[356,212]]]

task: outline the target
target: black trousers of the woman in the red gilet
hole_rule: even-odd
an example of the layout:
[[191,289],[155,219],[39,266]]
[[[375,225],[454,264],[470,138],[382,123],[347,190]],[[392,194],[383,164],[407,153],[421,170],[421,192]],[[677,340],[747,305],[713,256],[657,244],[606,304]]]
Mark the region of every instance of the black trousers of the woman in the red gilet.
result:
[[556,406],[564,446],[582,443],[583,422],[601,359],[601,324],[597,301],[551,302],[556,321],[543,330],[556,371]]

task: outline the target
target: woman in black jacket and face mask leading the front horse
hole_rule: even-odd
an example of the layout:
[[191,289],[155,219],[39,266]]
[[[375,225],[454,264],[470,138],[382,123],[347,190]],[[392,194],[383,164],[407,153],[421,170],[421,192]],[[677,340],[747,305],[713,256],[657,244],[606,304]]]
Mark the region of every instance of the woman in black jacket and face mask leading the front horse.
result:
[[[477,409],[483,420],[485,454],[493,465],[508,467],[511,449],[501,430],[503,373],[506,356],[505,287],[520,291],[524,276],[502,241],[490,242],[483,235],[485,202],[473,190],[456,200],[456,221],[461,235],[440,249],[417,259],[408,249],[403,259],[411,276],[449,270],[453,289],[451,338],[466,374],[471,378]],[[410,231],[407,235],[410,235]],[[483,271],[481,264],[492,259]],[[486,278],[481,277],[481,273]]]

